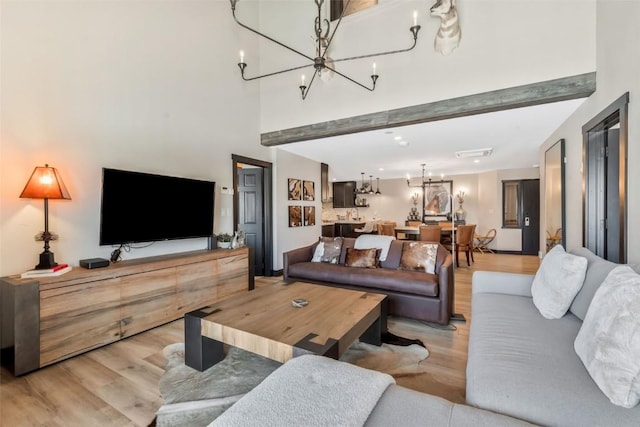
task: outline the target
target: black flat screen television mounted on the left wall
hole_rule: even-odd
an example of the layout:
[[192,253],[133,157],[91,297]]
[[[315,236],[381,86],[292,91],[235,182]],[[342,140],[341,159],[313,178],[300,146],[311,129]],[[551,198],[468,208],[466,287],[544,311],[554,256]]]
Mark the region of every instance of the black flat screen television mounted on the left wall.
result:
[[211,236],[215,185],[103,168],[100,245]]

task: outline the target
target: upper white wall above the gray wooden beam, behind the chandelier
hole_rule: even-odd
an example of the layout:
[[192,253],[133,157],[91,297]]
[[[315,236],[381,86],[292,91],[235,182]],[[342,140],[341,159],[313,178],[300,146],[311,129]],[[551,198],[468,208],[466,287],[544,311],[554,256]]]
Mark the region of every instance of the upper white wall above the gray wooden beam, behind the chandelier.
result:
[[[337,64],[341,72],[368,85],[375,61],[380,75],[375,92],[335,76],[329,82],[314,82],[309,96],[302,101],[298,89],[300,75],[305,74],[309,81],[313,74],[311,67],[261,80],[261,131],[385,111],[595,69],[594,0],[458,2],[462,41],[448,56],[433,49],[440,22],[428,15],[433,3],[379,0],[377,6],[343,20],[331,47],[331,56],[336,59],[409,47],[413,11],[419,12],[418,23],[422,29],[414,50]],[[267,34],[314,56],[316,8],[312,1],[262,1],[261,5],[261,25]],[[239,2],[239,14],[251,7],[251,2]],[[261,43],[261,53],[263,72],[308,63],[270,42]]]

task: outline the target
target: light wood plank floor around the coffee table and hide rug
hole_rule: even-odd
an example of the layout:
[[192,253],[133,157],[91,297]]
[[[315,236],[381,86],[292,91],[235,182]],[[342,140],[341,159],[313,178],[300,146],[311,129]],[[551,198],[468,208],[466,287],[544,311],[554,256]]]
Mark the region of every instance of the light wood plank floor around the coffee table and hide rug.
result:
[[[476,262],[456,269],[456,313],[466,322],[442,330],[409,319],[389,319],[392,332],[421,339],[427,359],[429,392],[464,402],[469,336],[471,275],[475,270],[534,273],[533,256],[475,254]],[[258,278],[268,286],[281,278]],[[162,349],[181,342],[178,320],[22,377],[0,371],[0,426],[147,426],[162,404],[158,382],[164,372]],[[424,377],[421,378],[424,381]],[[402,378],[398,383],[411,387]]]

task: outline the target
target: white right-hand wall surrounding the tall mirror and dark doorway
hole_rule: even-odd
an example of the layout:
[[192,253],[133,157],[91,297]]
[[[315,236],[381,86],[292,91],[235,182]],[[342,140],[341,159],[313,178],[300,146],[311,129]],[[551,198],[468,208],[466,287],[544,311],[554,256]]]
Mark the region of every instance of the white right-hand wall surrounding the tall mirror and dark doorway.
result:
[[[596,92],[562,124],[540,147],[540,164],[544,152],[560,138],[565,139],[567,249],[582,246],[582,126],[613,101],[629,92],[629,144],[627,151],[627,220],[628,262],[640,262],[640,2],[598,0],[597,2],[597,89]],[[544,188],[544,186],[542,187]],[[544,195],[541,200],[544,201]],[[543,205],[544,206],[544,205]],[[544,227],[542,228],[544,230]],[[541,241],[543,236],[541,236]]]

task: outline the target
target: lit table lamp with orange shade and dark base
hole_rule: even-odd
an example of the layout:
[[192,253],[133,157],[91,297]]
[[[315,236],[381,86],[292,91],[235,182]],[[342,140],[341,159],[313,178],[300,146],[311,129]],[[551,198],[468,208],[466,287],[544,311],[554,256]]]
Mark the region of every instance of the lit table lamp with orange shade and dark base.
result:
[[36,234],[36,241],[44,242],[44,252],[40,254],[40,263],[36,265],[36,270],[53,268],[58,263],[53,259],[53,252],[49,251],[49,242],[56,240],[57,235],[49,232],[49,199],[71,200],[67,187],[62,182],[62,177],[56,168],[36,166],[31,174],[31,178],[25,185],[20,198],[23,199],[44,199],[44,231]]

